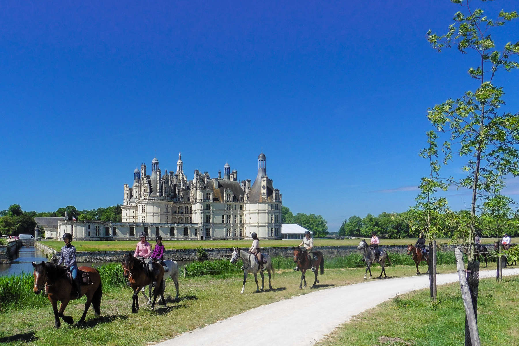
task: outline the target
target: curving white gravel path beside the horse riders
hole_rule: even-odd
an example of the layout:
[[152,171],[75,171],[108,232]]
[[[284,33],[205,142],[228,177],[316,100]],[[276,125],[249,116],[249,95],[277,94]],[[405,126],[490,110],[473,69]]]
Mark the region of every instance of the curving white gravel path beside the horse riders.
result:
[[[495,278],[495,270],[480,271],[480,278]],[[504,275],[519,275],[519,269],[503,269]],[[439,274],[438,285],[458,282],[458,273]],[[337,326],[364,310],[395,297],[397,294],[429,287],[429,275],[409,278],[368,280],[359,284],[318,290],[261,306],[226,320],[197,328],[162,346],[242,346],[245,342],[264,345],[311,346],[330,334]],[[320,311],[321,318],[312,322],[302,337],[303,310]],[[258,330],[262,325],[261,330]],[[250,331],[250,329],[253,329]],[[249,330],[247,332],[244,331]]]

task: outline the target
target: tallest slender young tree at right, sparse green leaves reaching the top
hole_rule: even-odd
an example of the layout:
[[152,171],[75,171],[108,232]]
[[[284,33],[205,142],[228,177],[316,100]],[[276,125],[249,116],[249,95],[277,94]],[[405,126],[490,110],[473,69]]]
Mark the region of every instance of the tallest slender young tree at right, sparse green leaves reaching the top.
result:
[[[450,177],[448,181],[458,188],[472,191],[471,221],[465,246],[468,252],[469,289],[477,313],[479,261],[474,251],[476,210],[499,176],[519,175],[519,113],[500,112],[499,108],[504,105],[503,88],[493,85],[498,71],[511,71],[519,67],[519,63],[512,60],[519,53],[519,42],[509,42],[499,51],[495,49],[495,41],[489,32],[519,16],[516,11],[501,10],[498,20],[492,20],[484,16],[482,9],[472,9],[469,0],[451,2],[465,7],[468,14],[456,12],[454,23],[449,25],[444,35],[439,36],[429,30],[428,41],[439,52],[456,45],[463,54],[473,53],[476,66],[470,67],[468,72],[479,86],[475,91],[467,91],[461,98],[448,99],[435,105],[429,109],[428,118],[436,133],[448,133],[441,146],[445,153],[443,163],[452,161],[455,153],[468,160],[463,167],[467,175],[461,179]],[[471,344],[467,321],[465,344]]]

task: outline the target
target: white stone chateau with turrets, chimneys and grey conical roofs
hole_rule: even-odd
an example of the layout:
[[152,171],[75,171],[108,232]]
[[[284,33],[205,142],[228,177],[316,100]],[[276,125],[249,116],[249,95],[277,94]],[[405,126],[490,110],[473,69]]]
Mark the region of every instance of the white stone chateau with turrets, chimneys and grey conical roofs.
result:
[[[150,238],[243,239],[256,232],[262,239],[281,239],[281,193],[267,176],[265,154],[258,156],[258,173],[238,182],[238,172],[224,165],[224,176],[211,178],[195,170],[188,180],[179,153],[176,172],[162,171],[152,161],[133,171],[132,186],[124,184],[122,222],[62,220],[55,238],[71,232],[76,240]],[[52,234],[54,238],[54,234]]]

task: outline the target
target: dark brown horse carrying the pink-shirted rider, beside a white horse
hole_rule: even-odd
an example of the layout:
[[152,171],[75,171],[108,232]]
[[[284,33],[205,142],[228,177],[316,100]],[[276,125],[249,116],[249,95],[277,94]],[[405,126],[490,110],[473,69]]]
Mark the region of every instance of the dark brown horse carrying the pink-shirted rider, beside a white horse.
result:
[[[122,259],[121,265],[124,270],[123,276],[128,278],[131,288],[133,288],[131,312],[136,313],[139,310],[139,291],[144,288],[144,286],[151,284],[153,279],[147,274],[145,262],[139,258],[133,257],[131,252],[129,252],[128,255],[125,255]],[[166,299],[164,299],[164,290],[162,289],[164,268],[156,262],[153,263],[153,268],[159,270],[157,278],[158,285],[153,290],[153,293],[150,294],[150,297],[152,294],[154,295],[152,309],[155,309],[155,301],[157,300],[157,295],[159,293],[164,306],[166,306]]]

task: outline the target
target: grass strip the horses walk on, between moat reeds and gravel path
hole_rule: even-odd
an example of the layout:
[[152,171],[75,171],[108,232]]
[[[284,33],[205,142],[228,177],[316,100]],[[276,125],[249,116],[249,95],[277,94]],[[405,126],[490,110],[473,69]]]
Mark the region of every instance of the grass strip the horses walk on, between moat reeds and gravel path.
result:
[[[379,268],[375,265],[374,275],[378,275]],[[394,278],[413,275],[415,269],[410,266],[395,266],[387,268],[386,271]],[[454,272],[455,266],[439,266],[438,271]],[[300,273],[284,270],[272,279],[273,290],[258,294],[254,293],[256,287],[253,276],[249,276],[243,295],[239,294],[242,274],[226,278],[215,276],[181,278],[179,302],[170,300],[167,308],[157,306],[158,309],[152,311],[145,305],[146,302],[140,294],[141,309],[136,314],[131,313],[132,291],[129,287],[106,289],[101,302],[102,315],[95,317],[93,311],[89,310],[86,328],[77,328],[62,322],[60,329],[54,329],[54,316],[50,303],[41,308],[3,312],[0,314],[0,343],[6,345],[145,345],[281,299],[326,287],[362,282],[363,276],[362,268],[325,269],[324,275],[319,275],[321,284],[318,288],[299,290]],[[170,280],[166,285],[166,294],[174,296],[174,292],[174,285]],[[496,299],[499,299],[497,295]],[[425,297],[426,305],[428,301],[429,298]],[[83,312],[84,303],[85,298],[72,301],[66,308],[65,314],[73,316],[77,321]],[[424,325],[423,321],[422,325]],[[416,327],[416,324],[412,327]],[[372,327],[366,326],[366,328]]]

